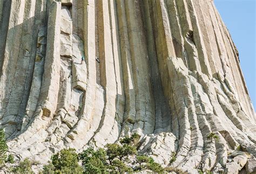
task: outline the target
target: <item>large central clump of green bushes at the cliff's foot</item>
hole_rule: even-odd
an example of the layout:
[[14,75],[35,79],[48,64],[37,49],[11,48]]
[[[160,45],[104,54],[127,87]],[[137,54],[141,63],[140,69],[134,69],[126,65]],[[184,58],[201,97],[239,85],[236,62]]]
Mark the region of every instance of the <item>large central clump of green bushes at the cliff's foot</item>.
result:
[[[87,148],[79,154],[75,149],[62,149],[52,155],[42,173],[124,173],[151,170],[162,173],[164,168],[146,155],[138,155],[140,136],[133,134],[120,140],[120,144],[106,144],[104,148]],[[79,162],[82,166],[79,165]]]

